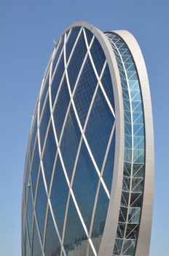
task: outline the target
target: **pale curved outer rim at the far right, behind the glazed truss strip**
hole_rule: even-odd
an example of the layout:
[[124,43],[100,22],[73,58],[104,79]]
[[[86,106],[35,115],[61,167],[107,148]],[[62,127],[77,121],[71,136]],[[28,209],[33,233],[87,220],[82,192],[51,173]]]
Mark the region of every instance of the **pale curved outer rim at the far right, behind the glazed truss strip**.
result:
[[138,241],[135,250],[135,256],[148,256],[149,245],[152,232],[152,211],[154,195],[154,130],[152,119],[152,103],[149,91],[149,79],[146,72],[146,65],[141,49],[130,32],[125,30],[112,31],[122,37],[133,56],[138,78],[141,86],[141,94],[144,105],[144,122],[145,122],[145,176],[144,176],[144,200],[141,213],[141,223],[138,233]]

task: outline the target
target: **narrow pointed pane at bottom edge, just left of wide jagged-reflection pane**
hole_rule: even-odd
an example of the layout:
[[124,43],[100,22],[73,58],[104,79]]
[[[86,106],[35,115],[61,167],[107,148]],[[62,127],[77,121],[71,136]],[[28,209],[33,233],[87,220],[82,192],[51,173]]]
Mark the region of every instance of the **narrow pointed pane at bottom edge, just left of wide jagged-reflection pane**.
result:
[[47,231],[44,246],[45,256],[60,256],[60,241],[55,230],[50,208],[47,216]]

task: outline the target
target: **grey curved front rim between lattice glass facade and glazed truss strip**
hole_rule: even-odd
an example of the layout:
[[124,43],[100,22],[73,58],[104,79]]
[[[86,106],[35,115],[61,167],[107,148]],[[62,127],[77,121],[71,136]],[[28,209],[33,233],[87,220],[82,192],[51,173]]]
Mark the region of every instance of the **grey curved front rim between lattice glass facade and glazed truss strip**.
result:
[[[111,80],[114,91],[114,104],[115,104],[115,122],[116,122],[116,142],[115,142],[115,157],[114,157],[114,174],[111,185],[111,197],[109,200],[109,208],[106,216],[106,223],[101,240],[101,246],[98,252],[98,256],[110,256],[112,255],[115,243],[115,237],[117,233],[117,225],[119,219],[119,206],[122,192],[122,177],[123,177],[123,162],[124,162],[124,113],[123,113],[123,101],[122,101],[122,86],[119,77],[119,69],[117,67],[117,60],[114,56],[114,52],[111,48],[111,44],[105,34],[102,31],[95,28],[90,23],[83,21],[73,23],[65,31],[75,26],[82,26],[89,29],[103,48],[109,70],[111,74]],[[63,34],[64,34],[63,33]]]

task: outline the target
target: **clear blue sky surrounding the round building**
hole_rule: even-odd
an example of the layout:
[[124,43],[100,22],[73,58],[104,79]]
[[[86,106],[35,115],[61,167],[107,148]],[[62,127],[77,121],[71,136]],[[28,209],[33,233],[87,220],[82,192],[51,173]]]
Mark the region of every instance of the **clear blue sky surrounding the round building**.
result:
[[155,197],[150,256],[168,255],[169,1],[1,0],[0,255],[19,256],[23,169],[31,117],[53,39],[84,20],[135,35],[149,74],[154,113]]

